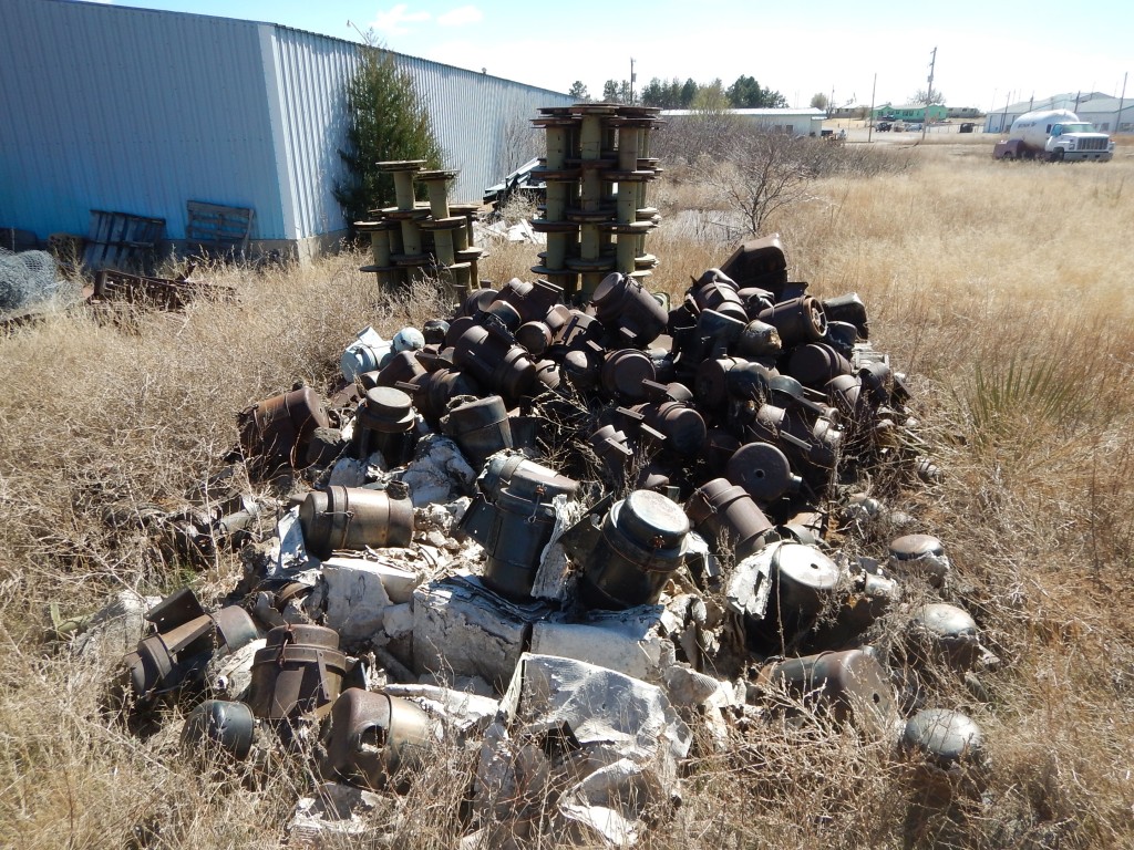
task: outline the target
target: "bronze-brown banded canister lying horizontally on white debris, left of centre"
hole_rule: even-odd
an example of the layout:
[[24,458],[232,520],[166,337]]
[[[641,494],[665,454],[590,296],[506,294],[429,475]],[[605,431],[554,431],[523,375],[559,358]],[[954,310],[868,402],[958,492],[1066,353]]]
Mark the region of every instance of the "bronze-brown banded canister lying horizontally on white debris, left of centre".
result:
[[408,546],[414,507],[389,491],[332,486],[307,494],[299,505],[299,525],[316,558],[329,558],[338,549]]

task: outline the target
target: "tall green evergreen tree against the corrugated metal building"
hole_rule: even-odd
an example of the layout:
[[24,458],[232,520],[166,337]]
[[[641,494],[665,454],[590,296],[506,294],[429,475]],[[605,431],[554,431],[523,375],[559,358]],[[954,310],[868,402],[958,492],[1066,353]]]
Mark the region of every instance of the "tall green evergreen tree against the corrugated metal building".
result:
[[347,179],[335,186],[335,199],[347,221],[365,221],[373,207],[393,202],[393,178],[376,163],[425,160],[440,168],[441,145],[414,82],[381,48],[363,48],[362,63],[347,84],[347,147],[339,151]]

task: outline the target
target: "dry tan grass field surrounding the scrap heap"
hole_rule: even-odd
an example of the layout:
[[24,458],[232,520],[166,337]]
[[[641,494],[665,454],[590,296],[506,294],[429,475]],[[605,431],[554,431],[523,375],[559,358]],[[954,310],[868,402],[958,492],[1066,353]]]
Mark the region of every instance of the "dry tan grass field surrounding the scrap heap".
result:
[[[782,235],[793,280],[862,296],[875,348],[915,391],[945,477],[890,507],[945,541],[1004,661],[982,675],[985,704],[955,681],[931,695],[984,728],[987,788],[923,808],[906,765],[853,732],[738,731],[727,756],[691,759],[684,801],[648,845],[1134,847],[1134,147],[1077,165],[993,162],[975,144],[895,153],[916,167],[818,181],[765,230]],[[689,184],[655,197],[670,219],[717,205]],[[663,224],[649,247],[657,288],[679,295],[734,244]],[[507,246],[481,277],[527,279],[534,260]],[[115,658],[76,663],[42,634],[52,602],[66,615],[121,587],[193,580],[211,601],[235,584],[235,554],[188,573],[105,509],[172,509],[235,444],[236,411],[299,379],[329,390],[367,323],[388,337],[438,314],[380,297],[363,262],[198,271],[237,301],[117,325],[59,314],[0,337],[0,847],[286,842],[311,776],[198,773],[177,754],[176,719],[144,741],[102,717]],[[467,776],[450,754],[401,804],[411,817],[372,816],[401,850],[454,847]]]

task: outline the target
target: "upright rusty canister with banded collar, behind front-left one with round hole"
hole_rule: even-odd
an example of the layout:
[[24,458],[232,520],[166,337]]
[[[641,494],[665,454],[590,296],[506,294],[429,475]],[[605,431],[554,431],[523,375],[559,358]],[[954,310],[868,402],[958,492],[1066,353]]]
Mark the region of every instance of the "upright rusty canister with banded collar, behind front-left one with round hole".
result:
[[337,631],[278,626],[253,657],[248,705],[261,720],[294,720],[333,703],[345,674]]

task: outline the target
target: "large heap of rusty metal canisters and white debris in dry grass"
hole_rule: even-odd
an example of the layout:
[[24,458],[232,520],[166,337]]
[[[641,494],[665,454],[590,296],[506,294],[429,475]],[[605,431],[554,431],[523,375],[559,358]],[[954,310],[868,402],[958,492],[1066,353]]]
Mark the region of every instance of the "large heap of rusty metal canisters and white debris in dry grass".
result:
[[[390,794],[463,748],[471,847],[628,845],[692,746],[785,712],[916,754],[945,798],[979,788],[981,729],[925,695],[996,657],[942,543],[879,543],[915,520],[862,490],[938,475],[909,393],[862,301],[786,269],[772,237],[670,311],[615,273],[585,309],[513,280],[367,329],[341,427],[308,388],[245,411],[249,468],[315,488],[225,606],[150,611],[124,711],[180,700],[187,748],[252,764],[318,738],[328,783]],[[296,834],[367,828],[314,804]]]

